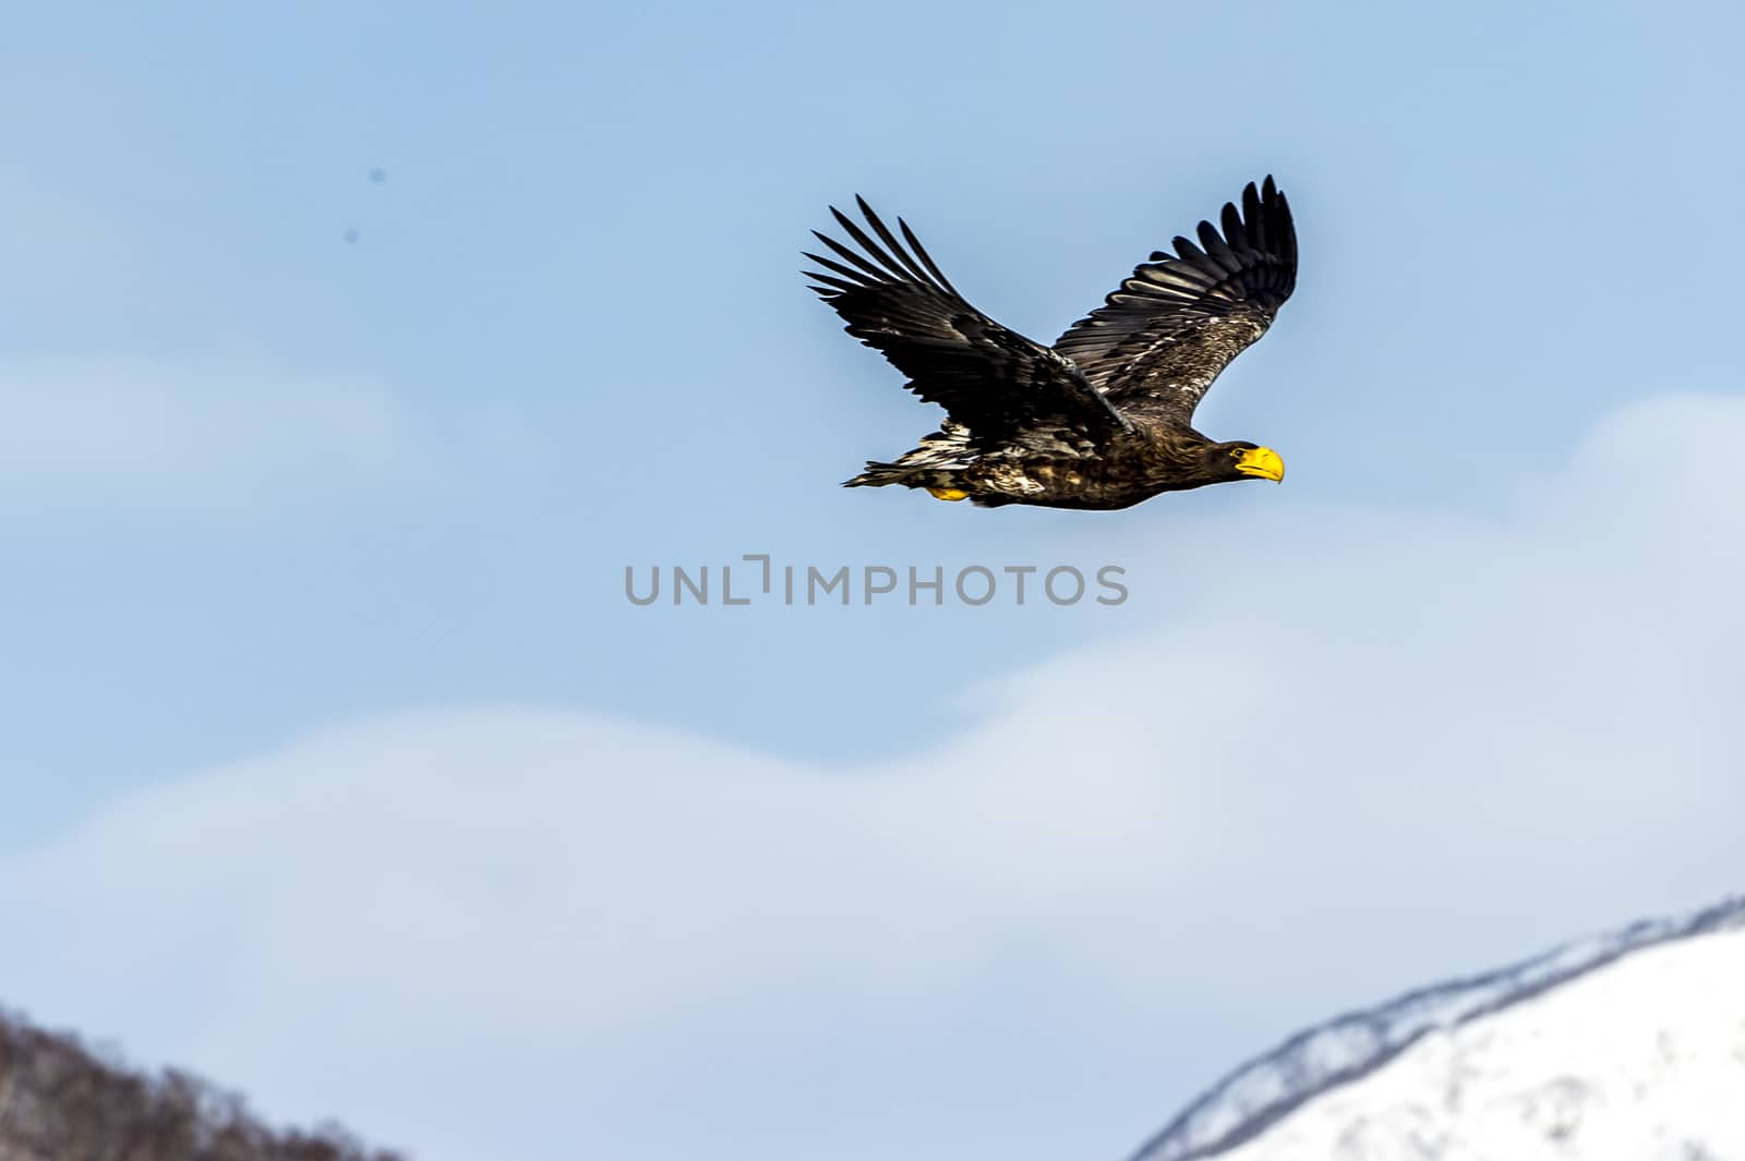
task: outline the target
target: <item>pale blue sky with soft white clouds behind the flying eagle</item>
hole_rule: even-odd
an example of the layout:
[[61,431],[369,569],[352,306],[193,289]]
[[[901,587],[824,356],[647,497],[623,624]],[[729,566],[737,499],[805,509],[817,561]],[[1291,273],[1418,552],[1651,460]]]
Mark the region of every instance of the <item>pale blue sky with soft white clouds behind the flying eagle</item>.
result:
[[[1738,891],[1742,24],[23,14],[0,1004],[428,1161],[1113,1159]],[[1297,293],[1199,425],[1283,486],[836,486],[937,411],[804,289],[827,206],[1050,340],[1267,173]],[[743,554],[1129,596],[625,598]]]

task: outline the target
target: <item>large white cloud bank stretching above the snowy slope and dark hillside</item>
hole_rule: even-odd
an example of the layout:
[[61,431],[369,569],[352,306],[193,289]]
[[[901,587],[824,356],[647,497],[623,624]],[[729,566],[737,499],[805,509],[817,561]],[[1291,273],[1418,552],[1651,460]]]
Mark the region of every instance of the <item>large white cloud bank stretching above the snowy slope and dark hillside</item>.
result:
[[323,732],[0,865],[10,999],[431,1161],[1112,1156],[1256,1029],[1745,882],[1742,439],[1672,399],[1502,519],[1204,525],[1131,567],[1187,615],[890,764]]

